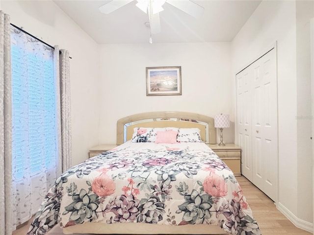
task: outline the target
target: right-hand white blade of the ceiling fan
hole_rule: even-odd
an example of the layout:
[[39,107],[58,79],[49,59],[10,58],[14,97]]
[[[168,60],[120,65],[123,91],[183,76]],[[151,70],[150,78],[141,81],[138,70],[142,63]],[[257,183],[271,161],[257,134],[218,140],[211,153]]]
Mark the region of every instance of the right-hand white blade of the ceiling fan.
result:
[[204,13],[204,7],[190,0],[166,0],[166,2],[195,18],[200,18]]

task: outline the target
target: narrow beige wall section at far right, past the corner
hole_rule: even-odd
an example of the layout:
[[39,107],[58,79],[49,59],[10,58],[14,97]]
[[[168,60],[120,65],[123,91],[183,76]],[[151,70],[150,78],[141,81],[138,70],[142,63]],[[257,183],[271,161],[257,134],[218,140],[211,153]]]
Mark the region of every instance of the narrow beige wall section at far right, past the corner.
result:
[[[297,71],[297,138],[298,138],[298,217],[307,220],[313,216],[308,210],[312,193],[304,193],[312,181],[312,99],[311,99],[311,30],[314,1],[296,1],[296,71]],[[305,170],[306,169],[306,170]],[[309,180],[310,179],[310,180]],[[312,221],[311,221],[312,222]]]

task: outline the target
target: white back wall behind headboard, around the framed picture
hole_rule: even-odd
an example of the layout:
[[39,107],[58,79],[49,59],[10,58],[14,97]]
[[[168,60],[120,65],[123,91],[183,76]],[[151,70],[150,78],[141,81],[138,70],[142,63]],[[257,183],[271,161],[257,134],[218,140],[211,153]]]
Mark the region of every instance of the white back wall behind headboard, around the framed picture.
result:
[[[128,44],[100,47],[100,142],[116,142],[116,121],[151,111],[214,117],[232,114],[230,43]],[[181,66],[182,95],[146,96],[146,67]],[[234,128],[224,142],[234,141]]]

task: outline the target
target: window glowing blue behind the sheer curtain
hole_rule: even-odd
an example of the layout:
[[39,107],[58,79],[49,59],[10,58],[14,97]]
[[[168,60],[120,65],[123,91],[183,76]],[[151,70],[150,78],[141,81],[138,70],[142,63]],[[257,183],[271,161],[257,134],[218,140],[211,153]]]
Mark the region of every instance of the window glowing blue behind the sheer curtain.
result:
[[13,177],[55,171],[53,48],[11,26]]

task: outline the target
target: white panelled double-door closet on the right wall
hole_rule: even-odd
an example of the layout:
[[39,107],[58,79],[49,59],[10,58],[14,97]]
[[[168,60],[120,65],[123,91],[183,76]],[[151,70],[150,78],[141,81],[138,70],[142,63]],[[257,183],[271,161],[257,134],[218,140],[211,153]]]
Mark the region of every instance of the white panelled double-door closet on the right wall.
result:
[[278,198],[276,50],[236,74],[236,135],[241,173],[274,202]]

